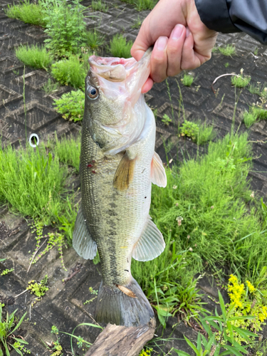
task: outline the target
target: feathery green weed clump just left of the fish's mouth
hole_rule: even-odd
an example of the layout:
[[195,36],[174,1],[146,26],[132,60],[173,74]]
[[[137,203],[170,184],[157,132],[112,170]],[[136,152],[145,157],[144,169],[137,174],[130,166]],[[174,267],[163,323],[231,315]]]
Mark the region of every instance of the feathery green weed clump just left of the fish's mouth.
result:
[[51,74],[53,78],[63,85],[72,85],[73,88],[84,90],[84,80],[87,70],[78,56],[72,55],[68,59],[53,63]]

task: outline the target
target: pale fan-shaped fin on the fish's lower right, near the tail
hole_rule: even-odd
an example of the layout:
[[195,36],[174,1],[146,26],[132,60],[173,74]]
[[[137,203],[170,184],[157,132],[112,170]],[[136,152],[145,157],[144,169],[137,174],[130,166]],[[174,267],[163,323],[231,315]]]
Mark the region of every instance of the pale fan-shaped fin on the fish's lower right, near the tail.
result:
[[162,233],[148,216],[142,236],[132,250],[132,257],[137,261],[150,261],[159,256],[164,248],[165,242]]

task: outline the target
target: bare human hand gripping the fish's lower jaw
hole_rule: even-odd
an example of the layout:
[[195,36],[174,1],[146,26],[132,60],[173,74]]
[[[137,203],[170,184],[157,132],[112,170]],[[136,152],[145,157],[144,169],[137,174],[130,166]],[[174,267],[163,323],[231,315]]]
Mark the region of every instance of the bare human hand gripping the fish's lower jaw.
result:
[[131,54],[137,61],[154,44],[151,73],[142,93],[167,76],[194,69],[211,58],[217,33],[199,17],[194,0],[160,0],[142,23]]

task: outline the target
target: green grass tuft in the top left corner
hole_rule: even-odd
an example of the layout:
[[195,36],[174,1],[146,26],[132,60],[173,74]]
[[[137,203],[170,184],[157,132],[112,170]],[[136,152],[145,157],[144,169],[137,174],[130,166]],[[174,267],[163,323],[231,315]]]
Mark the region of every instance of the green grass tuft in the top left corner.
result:
[[12,19],[19,19],[37,26],[46,26],[42,7],[39,4],[31,4],[30,0],[21,1],[19,5],[8,5],[5,13]]

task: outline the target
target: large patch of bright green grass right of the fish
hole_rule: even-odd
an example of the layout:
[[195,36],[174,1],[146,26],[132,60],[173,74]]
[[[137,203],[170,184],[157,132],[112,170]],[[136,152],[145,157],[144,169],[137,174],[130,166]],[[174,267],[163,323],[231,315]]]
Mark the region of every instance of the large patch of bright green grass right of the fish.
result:
[[227,266],[256,280],[266,264],[267,233],[247,181],[251,159],[248,135],[227,135],[210,142],[204,157],[167,169],[166,188],[152,186],[150,215],[167,247],[154,261],[132,261],[132,274],[149,298],[153,283],[167,286],[159,292],[167,298],[167,283],[184,285],[204,266]]

